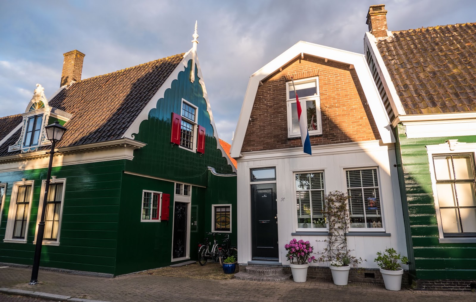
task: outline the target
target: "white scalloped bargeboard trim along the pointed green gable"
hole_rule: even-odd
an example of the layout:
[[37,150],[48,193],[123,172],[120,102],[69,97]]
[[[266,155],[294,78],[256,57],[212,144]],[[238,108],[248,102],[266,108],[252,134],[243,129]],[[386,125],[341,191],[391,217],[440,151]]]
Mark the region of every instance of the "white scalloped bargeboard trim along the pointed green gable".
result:
[[[132,122],[132,124],[129,126],[129,128],[126,130],[124,135],[122,136],[123,138],[130,138],[134,139],[134,134],[139,133],[139,127],[140,123],[142,121],[146,120],[149,118],[149,111],[151,109],[154,109],[157,107],[157,102],[159,101],[160,98],[163,98],[165,95],[165,91],[169,88],[172,87],[172,81],[174,79],[178,78],[178,73],[183,71],[184,68],[187,68],[188,66],[188,60],[194,58],[194,53],[193,53],[193,48],[188,50],[187,53],[183,56],[182,60],[180,63],[178,63],[177,67],[174,69],[174,71],[169,75],[169,78],[165,80],[165,82],[160,86],[159,90],[154,94],[154,96],[149,100],[147,105],[142,109],[142,111],[139,113],[138,117]],[[217,140],[217,149],[221,151],[221,154],[223,157],[227,159],[228,165],[230,165],[233,169],[233,172],[237,172],[237,169],[229,159],[228,155],[225,153],[225,150],[223,150],[223,147],[220,145],[220,141],[218,140],[218,132],[217,132],[217,127],[215,127],[215,120],[213,119],[213,114],[211,112],[211,107],[210,107],[210,102],[208,100],[208,94],[207,94],[207,89],[205,88],[205,82],[203,81],[203,75],[202,71],[200,68],[200,63],[198,62],[198,56],[195,56],[195,64],[197,65],[198,73],[197,76],[200,78],[199,84],[202,86],[203,90],[203,98],[205,98],[205,101],[207,102],[207,111],[208,114],[210,115],[210,124],[213,127],[213,136]]]

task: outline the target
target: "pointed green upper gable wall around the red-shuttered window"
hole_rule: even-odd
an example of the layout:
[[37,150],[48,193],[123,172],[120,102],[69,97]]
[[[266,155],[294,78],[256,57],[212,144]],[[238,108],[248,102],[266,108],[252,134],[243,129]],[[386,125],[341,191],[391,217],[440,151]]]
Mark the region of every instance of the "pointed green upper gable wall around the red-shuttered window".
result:
[[[202,186],[207,185],[208,166],[214,167],[218,173],[233,172],[227,159],[217,149],[203,89],[198,76],[193,83],[190,82],[190,68],[191,60],[188,67],[178,74],[178,79],[172,81],[164,97],[159,99],[157,108],[150,110],[149,118],[140,124],[134,139],[148,145],[134,151],[134,160],[126,164],[127,171]],[[206,129],[203,155],[170,143],[171,114],[180,115],[182,98],[198,107],[198,125]]]

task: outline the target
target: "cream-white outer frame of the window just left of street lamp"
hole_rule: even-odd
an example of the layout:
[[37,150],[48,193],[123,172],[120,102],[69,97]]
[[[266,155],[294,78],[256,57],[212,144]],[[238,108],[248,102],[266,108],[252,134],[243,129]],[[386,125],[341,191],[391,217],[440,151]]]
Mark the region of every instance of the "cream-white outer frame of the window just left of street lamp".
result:
[[[17,213],[17,198],[18,198],[18,187],[20,185],[31,185],[30,190],[30,204],[28,205],[28,213],[27,213],[27,227],[25,228],[25,238],[24,239],[17,239],[13,237],[13,226],[15,224],[15,215]],[[3,242],[10,242],[10,243],[27,243],[28,240],[28,230],[30,225],[30,213],[31,213],[31,206],[33,204],[33,191],[35,190],[35,181],[33,180],[25,180],[25,181],[17,181],[13,183],[13,187],[11,190],[10,196],[10,207],[8,209],[8,219],[7,219],[7,227],[5,229],[5,238]]]

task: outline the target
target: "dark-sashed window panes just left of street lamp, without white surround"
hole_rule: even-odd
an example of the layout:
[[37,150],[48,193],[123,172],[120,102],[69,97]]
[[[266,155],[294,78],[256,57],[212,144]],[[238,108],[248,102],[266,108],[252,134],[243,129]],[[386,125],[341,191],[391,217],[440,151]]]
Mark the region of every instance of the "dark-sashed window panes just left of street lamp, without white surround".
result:
[[14,239],[25,239],[29,207],[31,202],[31,185],[20,185],[16,199],[16,213],[13,224]]

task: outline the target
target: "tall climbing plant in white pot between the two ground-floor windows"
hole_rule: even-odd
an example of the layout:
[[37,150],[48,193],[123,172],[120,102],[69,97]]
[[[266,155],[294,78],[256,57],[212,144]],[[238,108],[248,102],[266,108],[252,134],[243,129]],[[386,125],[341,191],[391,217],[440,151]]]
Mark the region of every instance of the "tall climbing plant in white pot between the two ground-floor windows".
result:
[[347,248],[347,232],[349,230],[349,214],[347,209],[347,195],[333,191],[324,196],[322,214],[326,217],[329,234],[324,242],[324,248],[319,262],[328,262],[332,273],[332,280],[336,285],[347,285],[350,265],[357,267],[362,258],[350,254]]

